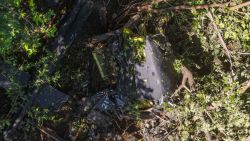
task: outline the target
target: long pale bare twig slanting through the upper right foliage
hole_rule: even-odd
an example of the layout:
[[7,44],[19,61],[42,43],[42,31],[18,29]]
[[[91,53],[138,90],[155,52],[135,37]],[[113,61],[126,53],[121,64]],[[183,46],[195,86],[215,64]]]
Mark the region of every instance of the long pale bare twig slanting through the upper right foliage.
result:
[[224,51],[225,51],[225,54],[226,54],[226,56],[227,56],[227,58],[228,58],[228,60],[229,60],[229,63],[230,63],[231,75],[234,76],[233,62],[232,62],[232,58],[231,58],[231,53],[230,53],[230,51],[228,50],[227,45],[226,45],[224,39],[223,39],[222,36],[221,36],[221,33],[220,33],[219,28],[218,28],[218,26],[215,24],[215,21],[214,21],[214,18],[213,18],[213,16],[212,16],[212,13],[211,13],[209,10],[208,10],[207,16],[208,16],[208,18],[211,20],[211,22],[212,22],[212,24],[213,24],[213,26],[214,26],[214,29],[215,29],[215,31],[216,31],[217,34],[218,34],[218,37],[219,37],[219,39],[220,39],[220,43],[221,43],[221,45],[222,45],[222,47],[223,47],[223,49],[224,49]]

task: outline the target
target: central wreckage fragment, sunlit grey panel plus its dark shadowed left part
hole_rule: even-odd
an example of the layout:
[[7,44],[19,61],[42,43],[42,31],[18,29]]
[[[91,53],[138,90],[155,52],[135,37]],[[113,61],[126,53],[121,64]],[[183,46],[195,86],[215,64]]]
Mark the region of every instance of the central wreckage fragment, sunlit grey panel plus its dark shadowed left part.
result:
[[[133,97],[134,94],[136,94],[135,98],[150,99],[154,101],[155,104],[160,104],[164,94],[170,92],[174,85],[175,78],[173,68],[169,61],[170,57],[168,58],[169,60],[167,60],[161,48],[147,36],[143,49],[145,54],[144,60],[141,62],[132,61],[132,47],[129,50],[124,49],[124,45],[121,44],[122,39],[119,33],[116,33],[118,36],[114,38],[109,47],[119,64],[117,93],[129,97]],[[105,56],[105,54],[102,54],[102,56]],[[102,69],[99,70],[101,75],[103,75],[102,73],[104,71],[102,70],[105,69],[104,66],[102,63],[100,67]],[[131,70],[134,72],[131,72]],[[108,103],[107,101],[110,101],[109,97],[103,98],[100,103]],[[107,104],[106,106],[109,107]]]

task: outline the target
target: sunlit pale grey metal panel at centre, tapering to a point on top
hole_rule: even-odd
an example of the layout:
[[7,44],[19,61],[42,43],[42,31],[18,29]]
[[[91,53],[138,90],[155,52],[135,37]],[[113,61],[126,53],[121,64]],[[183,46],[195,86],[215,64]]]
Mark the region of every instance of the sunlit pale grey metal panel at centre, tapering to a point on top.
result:
[[166,67],[160,48],[146,37],[145,60],[135,65],[135,83],[137,94],[161,102],[163,95],[169,91],[170,79],[167,76]]

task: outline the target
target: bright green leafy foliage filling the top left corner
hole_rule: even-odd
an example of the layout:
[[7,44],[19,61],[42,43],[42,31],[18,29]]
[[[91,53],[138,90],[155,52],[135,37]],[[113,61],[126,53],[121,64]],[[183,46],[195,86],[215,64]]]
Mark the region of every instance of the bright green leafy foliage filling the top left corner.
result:
[[51,38],[56,33],[56,27],[47,24],[55,15],[52,10],[38,12],[33,0],[28,1],[29,10],[22,4],[4,0],[0,5],[0,54],[6,59],[20,51],[34,56],[41,48],[41,36]]

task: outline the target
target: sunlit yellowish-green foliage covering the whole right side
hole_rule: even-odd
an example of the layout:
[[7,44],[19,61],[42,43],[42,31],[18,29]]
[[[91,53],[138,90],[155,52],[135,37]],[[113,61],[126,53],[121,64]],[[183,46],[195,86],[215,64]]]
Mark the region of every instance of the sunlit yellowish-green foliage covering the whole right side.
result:
[[[234,2],[242,3],[240,0]],[[211,0],[209,3],[221,1]],[[157,8],[169,5],[161,4]],[[187,0],[177,5],[182,4],[193,6],[207,3]],[[177,118],[172,119],[169,125],[170,129],[177,128],[169,134],[169,138],[179,136],[181,140],[206,140],[205,133],[209,133],[213,140],[244,140],[250,134],[249,96],[240,93],[240,84],[250,78],[250,60],[239,52],[250,51],[250,8],[209,10],[230,51],[234,74],[206,9],[179,13],[167,11],[169,14],[161,13],[158,18],[151,19],[154,25],[159,25],[155,27],[157,33],[165,30],[170,39],[177,56],[173,63],[175,70],[180,72],[182,65],[187,66],[196,82],[194,92],[184,90],[173,97],[174,102],[165,103],[165,110]],[[160,26],[164,18],[171,19],[166,21],[167,29]]]

